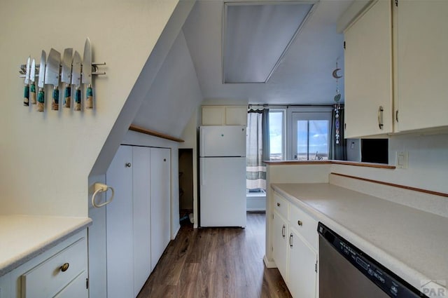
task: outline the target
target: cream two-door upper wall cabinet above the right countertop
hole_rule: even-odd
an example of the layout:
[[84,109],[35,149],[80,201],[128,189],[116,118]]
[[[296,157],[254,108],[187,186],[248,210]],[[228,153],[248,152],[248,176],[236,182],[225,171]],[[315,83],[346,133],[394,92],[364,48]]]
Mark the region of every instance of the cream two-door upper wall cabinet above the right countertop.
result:
[[374,1],[346,28],[346,137],[447,130],[446,15],[448,1]]

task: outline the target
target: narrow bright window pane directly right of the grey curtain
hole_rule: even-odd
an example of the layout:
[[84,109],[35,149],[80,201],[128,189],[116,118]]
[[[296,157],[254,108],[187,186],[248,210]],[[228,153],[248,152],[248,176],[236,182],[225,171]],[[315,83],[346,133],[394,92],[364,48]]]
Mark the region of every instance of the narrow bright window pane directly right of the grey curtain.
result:
[[285,159],[283,109],[269,110],[269,160],[283,161]]

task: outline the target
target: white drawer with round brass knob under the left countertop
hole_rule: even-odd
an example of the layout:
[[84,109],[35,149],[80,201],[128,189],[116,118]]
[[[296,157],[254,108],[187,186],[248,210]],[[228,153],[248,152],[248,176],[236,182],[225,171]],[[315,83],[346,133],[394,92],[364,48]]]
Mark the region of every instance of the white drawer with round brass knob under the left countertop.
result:
[[[62,271],[64,264],[69,264],[69,266]],[[24,273],[21,276],[22,298],[54,297],[83,271],[87,272],[87,241],[85,237]]]

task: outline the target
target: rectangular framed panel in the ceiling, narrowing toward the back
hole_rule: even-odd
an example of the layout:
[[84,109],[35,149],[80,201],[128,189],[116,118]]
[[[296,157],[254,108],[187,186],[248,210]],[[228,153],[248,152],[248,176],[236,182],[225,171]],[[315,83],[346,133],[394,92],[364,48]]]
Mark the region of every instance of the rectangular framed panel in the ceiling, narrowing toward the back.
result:
[[314,1],[225,3],[223,83],[266,83],[314,4]]

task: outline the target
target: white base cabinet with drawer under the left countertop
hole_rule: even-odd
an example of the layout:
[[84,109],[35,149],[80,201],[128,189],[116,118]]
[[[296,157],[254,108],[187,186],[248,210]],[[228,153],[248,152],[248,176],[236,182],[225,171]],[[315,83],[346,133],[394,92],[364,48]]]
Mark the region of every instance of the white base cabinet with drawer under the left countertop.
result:
[[87,278],[85,229],[2,276],[0,297],[87,298]]

